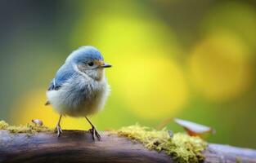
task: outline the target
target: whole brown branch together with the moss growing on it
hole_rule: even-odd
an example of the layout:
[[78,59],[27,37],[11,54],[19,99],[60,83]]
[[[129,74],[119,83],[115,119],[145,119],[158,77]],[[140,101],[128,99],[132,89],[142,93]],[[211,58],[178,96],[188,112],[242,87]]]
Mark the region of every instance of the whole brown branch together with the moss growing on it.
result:
[[[65,136],[56,139],[56,133],[53,133],[51,129],[47,129],[50,130],[49,132],[41,130],[42,128],[33,132],[30,129],[19,129],[19,132],[16,132],[17,130],[11,130],[9,127],[5,121],[0,121],[0,161],[200,162],[205,157],[205,162],[256,163],[256,150],[254,149],[206,144],[202,139],[186,134],[171,134],[170,137],[168,130],[152,130],[138,125],[124,127],[121,130],[100,132],[100,142],[94,142],[91,133],[83,130],[64,130]],[[33,133],[33,136],[27,136],[30,135],[27,133],[28,130]],[[130,140],[140,141],[154,151],[147,150],[140,143],[131,144]],[[67,152],[71,154],[66,155]]]

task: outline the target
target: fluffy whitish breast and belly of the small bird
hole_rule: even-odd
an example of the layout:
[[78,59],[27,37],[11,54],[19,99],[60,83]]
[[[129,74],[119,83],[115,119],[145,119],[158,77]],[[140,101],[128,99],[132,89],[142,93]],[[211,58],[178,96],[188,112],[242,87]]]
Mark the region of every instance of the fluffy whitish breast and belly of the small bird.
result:
[[75,76],[60,90],[47,91],[47,98],[56,112],[71,117],[84,117],[104,107],[110,86],[106,78],[101,81]]

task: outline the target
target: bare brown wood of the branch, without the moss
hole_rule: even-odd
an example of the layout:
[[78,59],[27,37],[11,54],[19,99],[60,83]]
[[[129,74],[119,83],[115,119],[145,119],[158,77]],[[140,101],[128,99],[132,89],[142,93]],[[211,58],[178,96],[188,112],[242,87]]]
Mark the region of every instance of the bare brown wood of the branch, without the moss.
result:
[[[256,162],[256,151],[209,144],[205,162]],[[140,143],[109,132],[101,141],[81,130],[64,130],[60,138],[52,133],[9,134],[0,130],[0,162],[173,162],[164,152],[149,151]]]

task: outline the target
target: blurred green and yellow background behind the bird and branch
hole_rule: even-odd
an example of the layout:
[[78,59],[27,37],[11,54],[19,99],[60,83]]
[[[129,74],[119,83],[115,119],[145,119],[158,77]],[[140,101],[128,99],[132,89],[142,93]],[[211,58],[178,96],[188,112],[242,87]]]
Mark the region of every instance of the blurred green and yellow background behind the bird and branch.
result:
[[99,130],[179,117],[212,126],[212,143],[256,148],[254,0],[2,0],[0,36],[0,119],[10,124],[56,126],[49,82],[71,51],[93,45],[113,64],[110,98],[91,117]]

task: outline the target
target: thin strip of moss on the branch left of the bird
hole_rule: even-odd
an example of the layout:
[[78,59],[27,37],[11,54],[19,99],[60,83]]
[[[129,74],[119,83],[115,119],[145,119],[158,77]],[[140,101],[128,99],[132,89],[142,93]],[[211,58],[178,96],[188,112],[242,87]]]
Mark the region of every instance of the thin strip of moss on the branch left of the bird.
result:
[[0,121],[0,130],[8,130],[10,133],[26,133],[26,134],[35,134],[38,132],[53,132],[52,129],[47,126],[36,126],[32,124],[27,124],[25,126],[10,126],[5,121]]

